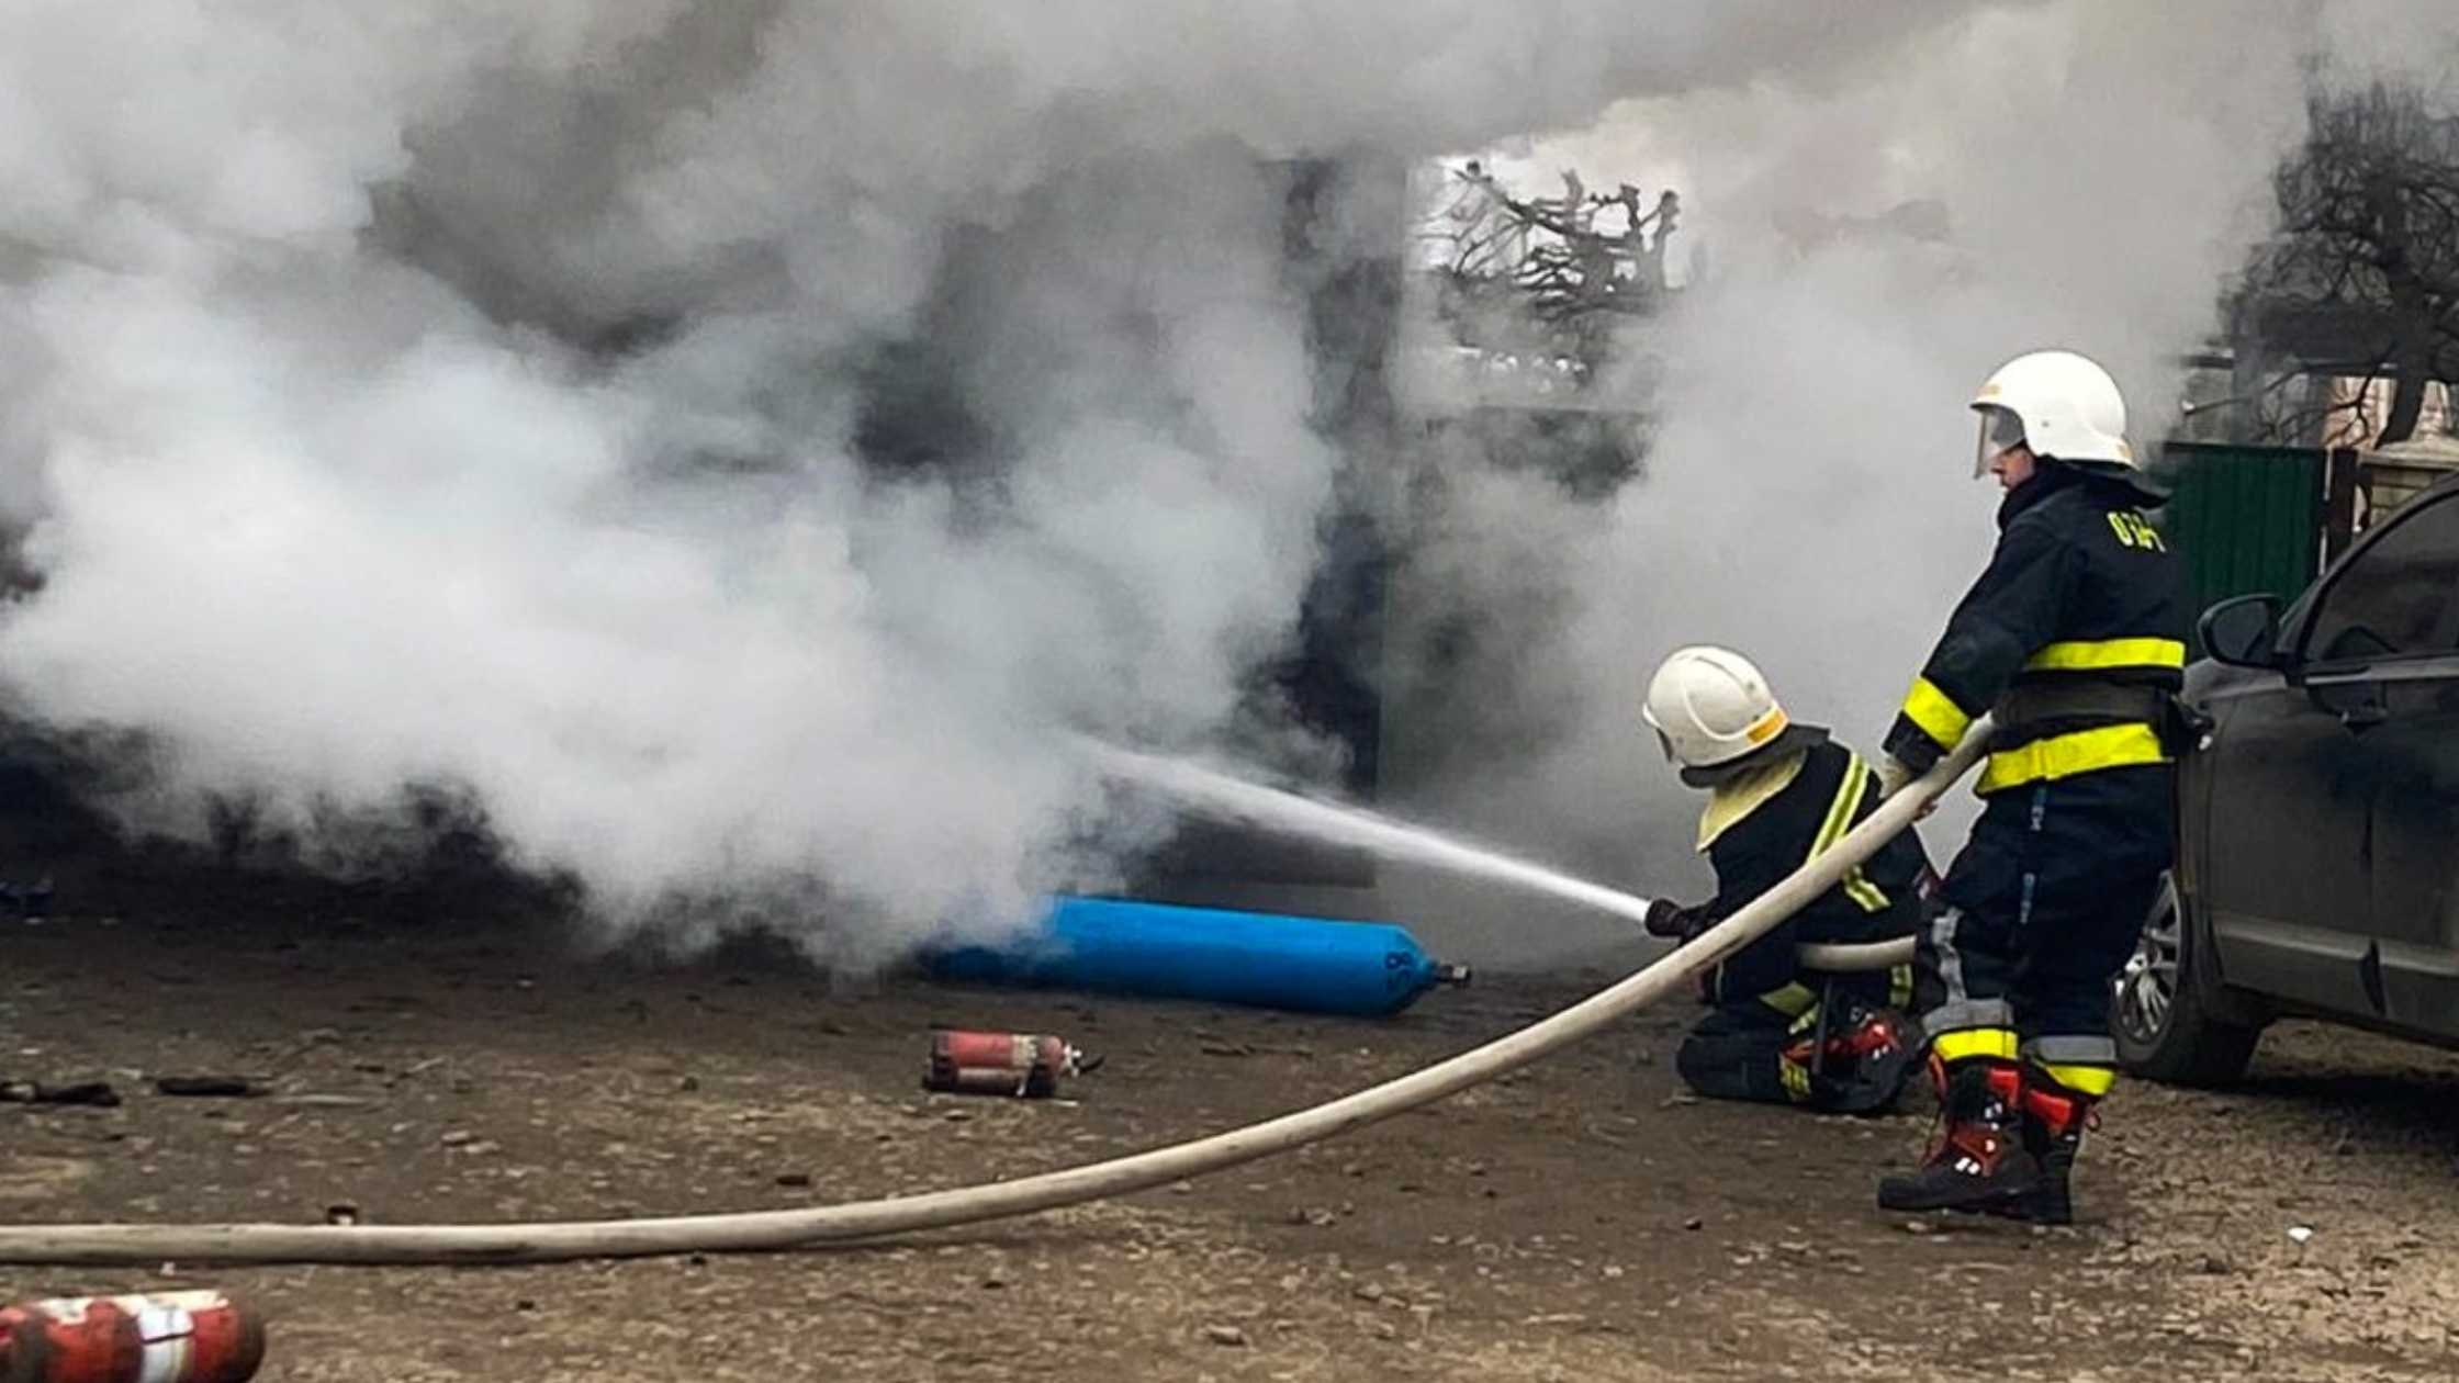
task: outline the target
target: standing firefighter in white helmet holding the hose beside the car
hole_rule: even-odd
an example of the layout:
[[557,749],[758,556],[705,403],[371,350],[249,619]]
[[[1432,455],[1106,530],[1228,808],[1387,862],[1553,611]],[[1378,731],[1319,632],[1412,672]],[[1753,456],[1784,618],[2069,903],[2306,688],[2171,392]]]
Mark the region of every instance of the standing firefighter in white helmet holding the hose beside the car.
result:
[[2068,1176],[2117,1080],[2110,982],[2171,861],[2186,586],[2144,509],[2117,381],[2070,352],[2004,364],[1972,399],[1975,475],[2007,490],[1989,568],[1886,736],[1889,787],[1982,714],[1982,815],[1918,950],[1940,1132],[1891,1211],[2068,1223]]

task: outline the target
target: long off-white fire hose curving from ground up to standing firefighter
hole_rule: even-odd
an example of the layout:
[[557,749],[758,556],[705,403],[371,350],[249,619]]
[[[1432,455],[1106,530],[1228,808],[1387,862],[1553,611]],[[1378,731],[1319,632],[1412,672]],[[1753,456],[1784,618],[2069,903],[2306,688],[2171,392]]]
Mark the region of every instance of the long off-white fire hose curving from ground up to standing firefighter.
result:
[[0,1262],[570,1262],[674,1253],[757,1253],[939,1230],[1168,1186],[1431,1105],[1529,1066],[1645,1009],[1834,888],[1844,871],[1911,827],[1923,807],[1972,768],[1987,743],[1989,721],[1984,716],[1975,721],[1955,753],[1881,802],[1866,822],[1844,832],[1825,854],[1731,918],[1613,987],[1480,1048],[1242,1130],[1016,1181],[804,1211],[504,1226],[0,1226]]

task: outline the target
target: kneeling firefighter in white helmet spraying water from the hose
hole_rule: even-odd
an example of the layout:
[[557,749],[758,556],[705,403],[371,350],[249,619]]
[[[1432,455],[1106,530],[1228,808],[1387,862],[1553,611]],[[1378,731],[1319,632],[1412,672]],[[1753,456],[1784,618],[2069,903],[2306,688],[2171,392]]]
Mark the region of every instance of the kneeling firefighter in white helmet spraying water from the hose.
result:
[[[1751,660],[1684,647],[1657,667],[1640,711],[1682,783],[1707,787],[1699,851],[1716,898],[1657,901],[1648,930],[1689,940],[1827,851],[1879,807],[1879,778],[1827,731],[1785,719]],[[1702,977],[1709,1014],[1675,1068],[1716,1100],[1869,1112],[1896,1102],[1918,1053],[1903,1006],[1911,967],[1805,974],[1800,943],[1913,935],[1930,861],[1906,832],[1869,864]]]

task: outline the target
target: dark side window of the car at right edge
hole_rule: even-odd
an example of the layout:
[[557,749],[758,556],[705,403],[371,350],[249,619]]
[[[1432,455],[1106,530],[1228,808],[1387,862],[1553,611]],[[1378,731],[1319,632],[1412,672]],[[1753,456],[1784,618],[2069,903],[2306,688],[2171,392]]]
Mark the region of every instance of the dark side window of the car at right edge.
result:
[[2321,593],[2304,640],[2309,662],[2459,652],[2459,497],[2434,497]]

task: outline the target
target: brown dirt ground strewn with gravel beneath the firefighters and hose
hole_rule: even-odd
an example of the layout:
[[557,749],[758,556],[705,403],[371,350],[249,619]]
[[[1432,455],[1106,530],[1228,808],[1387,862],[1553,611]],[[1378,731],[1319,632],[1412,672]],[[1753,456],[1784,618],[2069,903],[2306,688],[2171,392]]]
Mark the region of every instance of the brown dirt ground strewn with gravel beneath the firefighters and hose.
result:
[[[590,960],[539,908],[93,869],[0,923],[0,1221],[777,1208],[1173,1142],[1416,1068],[1606,972],[1397,1021],[831,987]],[[489,1270],[0,1267],[10,1297],[221,1285],[268,1381],[2449,1378],[2459,1058],[2282,1026],[2228,1095],[2129,1085],[2090,1223],[1871,1208],[1928,1112],[1687,1100],[1682,1011],[1429,1112],[1116,1203],[907,1243]],[[1057,1031],[1075,1100],[917,1088],[934,1024]],[[263,1098],[152,1093],[248,1073]],[[2309,1228],[2304,1243],[2289,1235]]]

